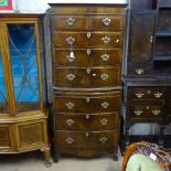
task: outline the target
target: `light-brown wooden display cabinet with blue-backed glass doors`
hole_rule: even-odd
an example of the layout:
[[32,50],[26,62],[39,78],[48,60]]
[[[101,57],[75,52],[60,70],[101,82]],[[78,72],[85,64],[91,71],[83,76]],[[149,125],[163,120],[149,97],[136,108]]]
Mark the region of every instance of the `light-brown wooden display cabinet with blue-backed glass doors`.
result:
[[0,14],[0,153],[42,150],[49,167],[41,18]]

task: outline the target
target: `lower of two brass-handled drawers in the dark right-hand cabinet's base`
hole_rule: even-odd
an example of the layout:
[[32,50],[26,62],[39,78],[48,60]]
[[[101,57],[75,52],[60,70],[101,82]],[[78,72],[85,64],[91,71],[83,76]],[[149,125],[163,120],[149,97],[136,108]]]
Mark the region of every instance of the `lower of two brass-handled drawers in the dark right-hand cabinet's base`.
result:
[[132,117],[135,118],[162,118],[162,105],[132,105]]

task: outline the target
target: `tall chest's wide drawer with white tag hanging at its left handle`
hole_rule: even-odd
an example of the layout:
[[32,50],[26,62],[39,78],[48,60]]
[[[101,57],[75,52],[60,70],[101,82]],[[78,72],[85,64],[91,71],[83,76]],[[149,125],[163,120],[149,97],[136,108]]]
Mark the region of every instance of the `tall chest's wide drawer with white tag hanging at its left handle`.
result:
[[53,63],[62,66],[106,66],[121,65],[122,50],[98,50],[98,49],[74,49],[74,56],[71,57],[71,50],[54,50]]

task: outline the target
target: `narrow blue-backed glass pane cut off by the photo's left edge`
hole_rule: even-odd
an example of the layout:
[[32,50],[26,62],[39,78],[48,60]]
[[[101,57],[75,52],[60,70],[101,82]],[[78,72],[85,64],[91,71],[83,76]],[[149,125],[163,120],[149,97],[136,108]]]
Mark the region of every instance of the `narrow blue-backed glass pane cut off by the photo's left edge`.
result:
[[0,115],[8,114],[7,90],[4,85],[3,62],[0,46]]

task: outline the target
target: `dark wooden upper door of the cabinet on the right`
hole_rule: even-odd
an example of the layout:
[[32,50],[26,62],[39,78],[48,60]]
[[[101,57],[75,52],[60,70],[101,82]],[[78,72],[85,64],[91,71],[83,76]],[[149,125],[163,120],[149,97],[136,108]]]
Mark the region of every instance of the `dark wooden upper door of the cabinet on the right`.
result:
[[153,13],[132,13],[129,61],[132,65],[147,65],[151,60]]

